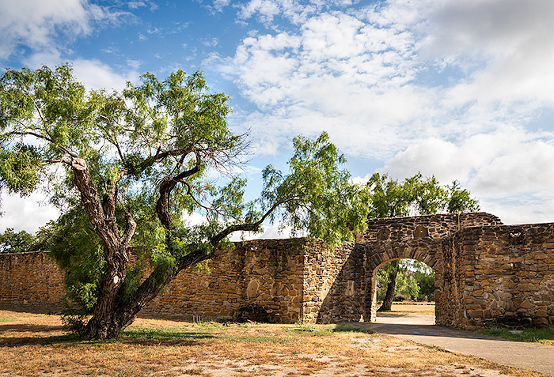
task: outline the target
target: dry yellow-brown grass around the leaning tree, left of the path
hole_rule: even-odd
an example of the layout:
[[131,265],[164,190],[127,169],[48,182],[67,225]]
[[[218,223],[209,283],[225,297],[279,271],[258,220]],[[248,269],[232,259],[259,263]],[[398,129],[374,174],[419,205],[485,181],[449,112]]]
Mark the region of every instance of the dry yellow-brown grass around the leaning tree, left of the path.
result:
[[0,376],[540,376],[335,325],[138,319],[117,341],[64,335],[57,316],[0,311]]

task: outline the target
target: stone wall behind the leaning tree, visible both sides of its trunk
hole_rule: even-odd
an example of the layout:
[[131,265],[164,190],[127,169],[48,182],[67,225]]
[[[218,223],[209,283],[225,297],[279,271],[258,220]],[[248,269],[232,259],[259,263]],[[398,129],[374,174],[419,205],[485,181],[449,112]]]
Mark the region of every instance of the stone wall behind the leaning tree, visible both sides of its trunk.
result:
[[[209,263],[182,271],[141,312],[196,318],[296,322],[302,316],[304,240],[236,243]],[[48,252],[0,254],[0,307],[60,311],[63,276]]]

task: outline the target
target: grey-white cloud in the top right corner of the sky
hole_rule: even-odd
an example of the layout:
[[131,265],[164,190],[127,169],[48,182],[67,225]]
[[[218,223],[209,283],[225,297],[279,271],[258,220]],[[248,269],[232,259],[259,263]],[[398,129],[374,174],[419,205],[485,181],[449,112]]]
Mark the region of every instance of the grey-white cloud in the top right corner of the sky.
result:
[[458,106],[515,107],[508,116],[552,107],[553,13],[548,0],[444,1],[427,14],[421,55],[469,70],[447,93]]

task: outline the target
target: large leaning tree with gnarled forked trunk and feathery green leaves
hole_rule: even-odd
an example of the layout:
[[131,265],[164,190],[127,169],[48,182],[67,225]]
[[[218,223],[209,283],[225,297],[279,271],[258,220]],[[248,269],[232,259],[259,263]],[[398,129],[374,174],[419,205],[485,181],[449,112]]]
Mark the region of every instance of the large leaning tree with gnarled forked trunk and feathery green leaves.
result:
[[[69,65],[2,75],[0,186],[28,195],[46,184],[62,210],[52,226],[54,243],[65,243],[62,269],[83,269],[80,253],[99,261],[74,275],[94,277],[76,288],[91,296],[84,337],[117,337],[179,271],[231,247],[233,232],[277,216],[331,244],[364,229],[367,188],[350,183],[325,133],[297,137],[290,172],[267,167],[260,199],[245,202],[236,172],[248,141],[228,128],[230,111],[199,72],[147,73],[122,92],[87,91]],[[193,212],[205,222],[187,225]],[[131,247],[149,276],[130,266]]]

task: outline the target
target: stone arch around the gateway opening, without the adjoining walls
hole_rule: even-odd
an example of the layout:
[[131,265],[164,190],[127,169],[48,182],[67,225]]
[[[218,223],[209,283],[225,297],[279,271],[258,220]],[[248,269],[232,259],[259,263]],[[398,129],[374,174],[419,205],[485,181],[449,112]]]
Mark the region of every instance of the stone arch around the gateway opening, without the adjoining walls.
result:
[[[449,254],[451,236],[471,226],[498,225],[500,219],[486,213],[443,214],[431,216],[376,219],[369,222],[361,243],[364,245],[365,302],[364,319],[375,321],[377,314],[377,271],[396,259],[414,259],[435,272],[435,318],[445,324],[456,310],[450,300],[458,289],[454,281],[456,260]],[[445,261],[447,261],[445,263]],[[460,311],[460,310],[459,310]]]

